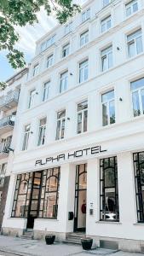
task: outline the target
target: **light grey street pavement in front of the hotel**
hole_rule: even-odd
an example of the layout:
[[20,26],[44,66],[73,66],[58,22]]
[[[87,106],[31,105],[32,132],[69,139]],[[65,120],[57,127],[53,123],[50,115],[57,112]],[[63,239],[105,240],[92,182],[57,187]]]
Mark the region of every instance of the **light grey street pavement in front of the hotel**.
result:
[[27,240],[19,237],[0,236],[0,256],[141,256],[140,253],[125,253],[108,249],[93,248],[84,251],[80,245],[55,242],[46,245],[45,241]]

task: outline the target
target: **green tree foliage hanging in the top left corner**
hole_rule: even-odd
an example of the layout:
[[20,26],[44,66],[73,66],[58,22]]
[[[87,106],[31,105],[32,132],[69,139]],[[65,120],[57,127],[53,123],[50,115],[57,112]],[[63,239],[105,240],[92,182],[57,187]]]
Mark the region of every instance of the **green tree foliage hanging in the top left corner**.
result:
[[13,68],[26,65],[23,52],[14,47],[19,40],[15,26],[33,25],[42,7],[47,15],[55,12],[60,24],[80,11],[72,0],[0,0],[0,50],[8,50],[7,57]]

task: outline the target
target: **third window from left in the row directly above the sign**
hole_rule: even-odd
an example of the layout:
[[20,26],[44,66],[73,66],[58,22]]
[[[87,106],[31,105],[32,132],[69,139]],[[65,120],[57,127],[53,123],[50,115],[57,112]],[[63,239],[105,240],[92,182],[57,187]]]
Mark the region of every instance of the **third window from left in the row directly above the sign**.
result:
[[56,140],[60,140],[65,136],[66,110],[57,113]]

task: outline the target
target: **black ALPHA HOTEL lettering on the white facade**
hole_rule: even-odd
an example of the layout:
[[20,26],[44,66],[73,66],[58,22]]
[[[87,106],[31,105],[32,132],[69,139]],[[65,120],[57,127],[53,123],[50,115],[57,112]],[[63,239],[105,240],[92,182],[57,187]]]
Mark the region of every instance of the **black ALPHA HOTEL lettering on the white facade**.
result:
[[60,160],[72,160],[72,159],[80,158],[87,155],[101,154],[102,152],[106,152],[106,151],[107,149],[102,149],[101,146],[79,149],[79,150],[73,151],[72,153],[68,152],[66,154],[58,154],[55,157],[50,156],[45,158],[44,160],[42,159],[36,160],[35,166],[44,166],[49,163],[59,162]]

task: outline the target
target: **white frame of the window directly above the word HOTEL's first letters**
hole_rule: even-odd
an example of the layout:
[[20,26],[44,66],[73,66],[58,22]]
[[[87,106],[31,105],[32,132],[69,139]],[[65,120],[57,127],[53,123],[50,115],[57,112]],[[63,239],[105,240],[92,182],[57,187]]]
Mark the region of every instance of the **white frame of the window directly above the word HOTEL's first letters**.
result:
[[[78,110],[78,105],[80,104],[83,104],[84,102],[87,102],[87,108],[84,108],[84,109],[81,109],[81,110]],[[80,134],[80,133],[83,133],[83,132],[86,132],[88,131],[88,100],[84,100],[83,102],[79,102],[77,105],[77,134]],[[84,113],[87,113],[87,127],[86,127],[86,131],[84,131]],[[81,124],[82,124],[82,127],[81,127],[81,131],[78,132],[78,116],[79,114],[81,114]]]

